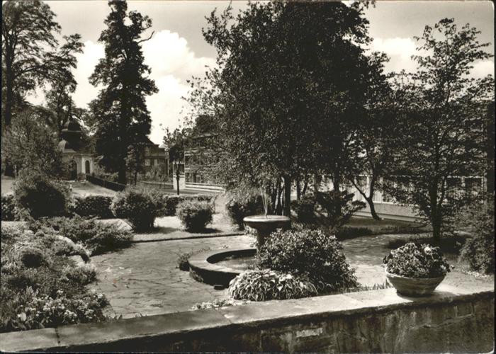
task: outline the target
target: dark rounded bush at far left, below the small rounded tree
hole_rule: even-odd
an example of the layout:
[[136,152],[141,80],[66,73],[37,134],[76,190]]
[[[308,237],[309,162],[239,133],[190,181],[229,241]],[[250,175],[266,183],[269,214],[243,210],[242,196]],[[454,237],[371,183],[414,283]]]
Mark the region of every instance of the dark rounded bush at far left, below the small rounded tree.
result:
[[39,172],[23,173],[14,184],[14,197],[16,207],[35,219],[69,212],[69,187]]

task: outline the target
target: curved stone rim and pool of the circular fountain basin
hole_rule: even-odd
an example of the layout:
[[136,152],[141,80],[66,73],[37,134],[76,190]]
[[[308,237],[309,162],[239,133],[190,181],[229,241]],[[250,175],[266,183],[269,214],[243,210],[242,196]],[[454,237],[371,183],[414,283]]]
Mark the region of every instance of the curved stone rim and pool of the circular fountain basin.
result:
[[189,275],[209,285],[229,282],[254,262],[257,249],[222,249],[196,253],[188,259]]

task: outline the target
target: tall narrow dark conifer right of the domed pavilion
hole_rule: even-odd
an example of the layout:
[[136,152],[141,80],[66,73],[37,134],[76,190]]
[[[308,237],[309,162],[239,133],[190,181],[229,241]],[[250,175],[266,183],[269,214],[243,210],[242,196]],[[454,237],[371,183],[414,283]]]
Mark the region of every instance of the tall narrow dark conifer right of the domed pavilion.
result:
[[150,134],[145,96],[157,92],[154,81],[147,77],[150,68],[143,64],[140,45],[152,38],[153,33],[141,39],[152,21],[137,11],[126,12],[125,1],[108,1],[108,6],[107,28],[98,39],[105,45],[105,57],[90,76],[91,84],[105,87],[91,108],[96,120],[96,150],[105,156],[108,169],[118,171],[119,183],[125,184],[128,149]]

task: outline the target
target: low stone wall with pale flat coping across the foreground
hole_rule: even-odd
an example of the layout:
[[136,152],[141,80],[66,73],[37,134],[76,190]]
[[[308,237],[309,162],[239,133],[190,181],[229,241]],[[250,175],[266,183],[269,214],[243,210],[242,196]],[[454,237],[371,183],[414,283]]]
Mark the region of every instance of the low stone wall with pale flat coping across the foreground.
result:
[[1,350],[136,352],[431,352],[494,348],[494,291],[442,285],[252,303],[103,324],[3,333]]

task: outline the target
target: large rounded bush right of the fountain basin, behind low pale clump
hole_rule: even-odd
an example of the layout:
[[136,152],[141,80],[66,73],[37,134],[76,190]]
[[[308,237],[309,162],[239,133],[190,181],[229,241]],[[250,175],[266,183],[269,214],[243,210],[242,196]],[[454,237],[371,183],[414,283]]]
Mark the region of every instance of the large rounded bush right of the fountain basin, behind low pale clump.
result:
[[341,243],[320,230],[273,232],[257,253],[257,268],[308,277],[320,292],[358,285]]

